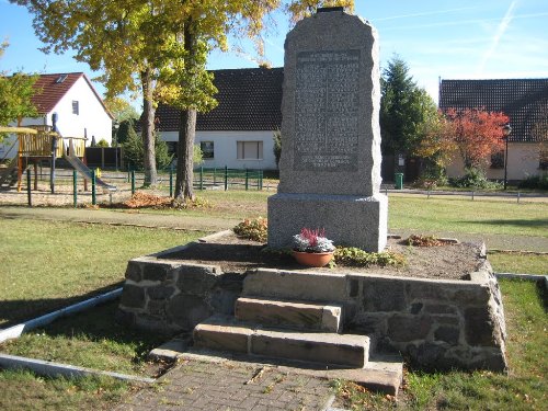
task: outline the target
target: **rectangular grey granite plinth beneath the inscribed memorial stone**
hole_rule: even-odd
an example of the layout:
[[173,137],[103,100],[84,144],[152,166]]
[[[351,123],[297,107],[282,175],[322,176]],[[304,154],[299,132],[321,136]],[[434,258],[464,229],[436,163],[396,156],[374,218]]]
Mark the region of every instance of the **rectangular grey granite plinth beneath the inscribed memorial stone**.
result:
[[290,247],[301,228],[323,228],[335,246],[383,251],[387,241],[388,198],[278,193],[269,197],[269,247]]

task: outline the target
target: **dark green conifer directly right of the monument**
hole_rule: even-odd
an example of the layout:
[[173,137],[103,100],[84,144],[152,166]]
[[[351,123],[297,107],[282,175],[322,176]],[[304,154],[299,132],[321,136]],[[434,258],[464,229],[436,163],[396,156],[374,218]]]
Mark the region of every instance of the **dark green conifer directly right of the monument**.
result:
[[380,134],[383,152],[412,155],[421,141],[421,127],[435,117],[432,98],[414,82],[398,56],[388,61],[380,79]]

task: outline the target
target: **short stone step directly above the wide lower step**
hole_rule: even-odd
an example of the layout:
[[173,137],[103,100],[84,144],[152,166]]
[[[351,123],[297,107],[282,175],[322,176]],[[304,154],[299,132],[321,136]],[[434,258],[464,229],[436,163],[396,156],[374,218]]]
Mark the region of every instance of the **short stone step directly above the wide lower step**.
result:
[[235,307],[235,317],[240,321],[334,333],[340,331],[341,313],[338,305],[249,297],[238,298]]

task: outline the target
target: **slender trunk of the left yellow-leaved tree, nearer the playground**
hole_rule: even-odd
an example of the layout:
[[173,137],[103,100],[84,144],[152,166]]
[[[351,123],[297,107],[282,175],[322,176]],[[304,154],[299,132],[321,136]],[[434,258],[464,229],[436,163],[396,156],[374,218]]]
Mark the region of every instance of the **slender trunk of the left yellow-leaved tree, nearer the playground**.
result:
[[155,104],[153,85],[150,69],[141,72],[142,83],[142,148],[145,150],[145,186],[157,184],[158,174],[156,172],[156,147],[155,147]]

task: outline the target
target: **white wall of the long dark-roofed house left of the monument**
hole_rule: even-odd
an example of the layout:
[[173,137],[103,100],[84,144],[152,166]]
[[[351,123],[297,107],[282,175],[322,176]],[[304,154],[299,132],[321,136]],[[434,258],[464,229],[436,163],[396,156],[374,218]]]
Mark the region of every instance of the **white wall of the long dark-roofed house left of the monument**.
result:
[[[161,138],[164,141],[178,141],[178,132],[162,132]],[[262,169],[275,170],[276,160],[274,158],[274,132],[196,132],[196,145],[202,141],[214,142],[214,158],[206,159],[202,164],[204,168],[229,169]],[[237,141],[262,141],[262,160],[238,160]]]

